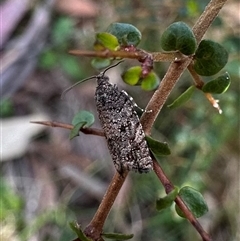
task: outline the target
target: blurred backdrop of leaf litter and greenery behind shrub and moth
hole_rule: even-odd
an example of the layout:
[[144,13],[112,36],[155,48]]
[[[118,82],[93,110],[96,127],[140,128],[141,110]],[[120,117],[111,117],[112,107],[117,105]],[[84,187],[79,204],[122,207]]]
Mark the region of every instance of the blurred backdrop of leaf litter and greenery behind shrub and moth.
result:
[[[160,37],[174,21],[193,26],[208,1],[1,1],[4,16],[1,46],[1,181],[2,240],[75,238],[68,223],[85,227],[110,182],[114,167],[104,139],[81,134],[69,141],[67,130],[44,128],[29,121],[71,123],[79,110],[94,113],[96,83],[88,81],[69,92],[77,80],[97,73],[91,58],[68,54],[91,50],[95,33],[112,22],[135,25],[142,32],[140,48],[161,51]],[[20,7],[19,7],[20,6]],[[152,135],[167,141],[172,154],[159,162],[174,185],[199,190],[209,212],[199,219],[213,240],[239,240],[239,1],[229,1],[206,33],[222,44],[229,62],[218,74],[231,76],[229,90],[219,96],[223,113],[212,108],[201,92],[178,109],[161,111]],[[18,10],[18,15],[14,14]],[[8,21],[7,21],[8,20]],[[6,21],[6,22],[5,22]],[[153,92],[126,86],[122,71],[134,61],[110,70],[111,82],[144,107]],[[155,64],[162,78],[168,63]],[[122,68],[122,69],[121,69]],[[209,78],[204,78],[208,80]],[[172,103],[192,84],[186,71],[171,93]],[[155,210],[164,189],[155,174],[131,173],[105,223],[106,232],[134,233],[133,241],[201,240],[174,208]]]

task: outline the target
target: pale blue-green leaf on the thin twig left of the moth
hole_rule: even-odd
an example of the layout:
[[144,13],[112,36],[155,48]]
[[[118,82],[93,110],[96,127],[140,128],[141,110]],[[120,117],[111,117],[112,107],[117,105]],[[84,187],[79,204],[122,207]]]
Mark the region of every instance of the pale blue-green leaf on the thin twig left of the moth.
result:
[[73,118],[73,129],[70,132],[70,140],[79,135],[83,127],[89,127],[94,123],[94,115],[88,111],[81,110]]

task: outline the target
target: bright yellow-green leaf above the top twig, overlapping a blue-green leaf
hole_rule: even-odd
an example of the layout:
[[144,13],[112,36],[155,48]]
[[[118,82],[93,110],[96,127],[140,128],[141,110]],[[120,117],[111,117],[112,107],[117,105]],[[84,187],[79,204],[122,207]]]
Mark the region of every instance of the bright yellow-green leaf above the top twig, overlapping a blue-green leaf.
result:
[[101,44],[107,49],[117,50],[119,47],[118,39],[110,33],[97,33],[95,45]]

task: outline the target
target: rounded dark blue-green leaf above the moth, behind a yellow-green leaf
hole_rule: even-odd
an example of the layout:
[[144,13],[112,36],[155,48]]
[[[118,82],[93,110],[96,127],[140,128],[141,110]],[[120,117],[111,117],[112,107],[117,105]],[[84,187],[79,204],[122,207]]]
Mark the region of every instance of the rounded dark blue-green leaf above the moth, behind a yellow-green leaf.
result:
[[107,32],[116,36],[121,46],[137,46],[142,38],[141,32],[128,23],[112,23]]

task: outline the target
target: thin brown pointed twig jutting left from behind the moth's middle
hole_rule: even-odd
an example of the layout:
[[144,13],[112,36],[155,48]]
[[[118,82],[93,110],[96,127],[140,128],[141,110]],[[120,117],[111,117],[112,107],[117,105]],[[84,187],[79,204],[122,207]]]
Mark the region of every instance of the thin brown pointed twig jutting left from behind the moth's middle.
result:
[[[30,121],[30,123],[41,124],[41,125],[50,126],[50,127],[60,127],[68,130],[72,130],[74,127],[73,125],[61,123],[57,121]],[[80,129],[80,131],[88,135],[104,136],[103,131],[97,128],[83,127]]]

